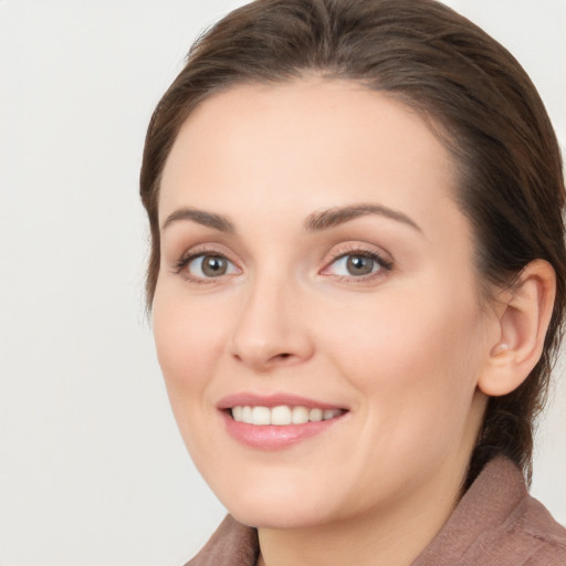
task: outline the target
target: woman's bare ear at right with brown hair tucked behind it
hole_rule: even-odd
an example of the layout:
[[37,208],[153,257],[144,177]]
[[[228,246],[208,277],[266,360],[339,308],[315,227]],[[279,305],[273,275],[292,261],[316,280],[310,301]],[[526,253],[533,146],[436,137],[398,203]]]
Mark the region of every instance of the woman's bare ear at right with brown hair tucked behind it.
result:
[[528,263],[502,293],[494,321],[497,339],[478,381],[485,395],[510,394],[528,377],[543,352],[555,294],[556,274],[544,260]]

